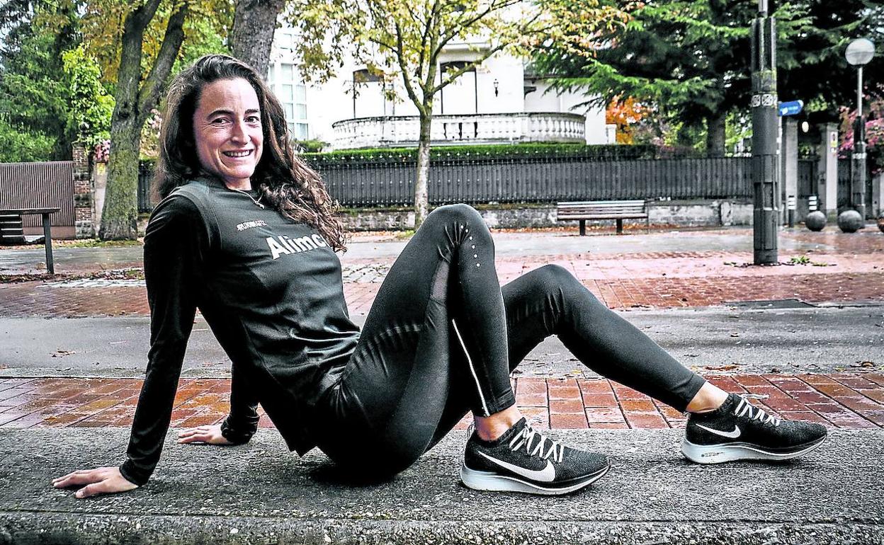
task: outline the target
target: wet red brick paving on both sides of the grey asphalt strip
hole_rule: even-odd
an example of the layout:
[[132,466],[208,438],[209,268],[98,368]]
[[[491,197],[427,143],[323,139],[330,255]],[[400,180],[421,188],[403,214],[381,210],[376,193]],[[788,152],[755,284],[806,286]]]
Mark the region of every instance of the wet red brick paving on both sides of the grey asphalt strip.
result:
[[[691,233],[684,233],[690,237]],[[827,246],[805,255],[818,266],[751,267],[748,253],[649,252],[499,259],[506,283],[546,263],[570,270],[608,307],[705,307],[759,299],[812,303],[884,300],[884,238],[790,231],[784,237]],[[591,248],[591,244],[588,243]],[[782,253],[780,261],[804,254]],[[392,260],[348,261],[344,286],[352,314],[370,309],[378,271]],[[825,266],[819,266],[825,265]],[[360,267],[371,269],[361,275]],[[50,281],[0,284],[0,315],[66,317],[147,315],[143,287],[62,287]],[[710,380],[724,390],[766,396],[773,413],[834,428],[884,427],[884,375],[732,375]],[[136,379],[0,379],[0,428],[129,426],[141,381]],[[225,379],[179,384],[173,427],[220,421],[229,403]],[[538,428],[680,428],[682,413],[603,379],[515,380],[516,403]],[[271,428],[266,415],[259,425]],[[459,424],[466,426],[466,420]]]

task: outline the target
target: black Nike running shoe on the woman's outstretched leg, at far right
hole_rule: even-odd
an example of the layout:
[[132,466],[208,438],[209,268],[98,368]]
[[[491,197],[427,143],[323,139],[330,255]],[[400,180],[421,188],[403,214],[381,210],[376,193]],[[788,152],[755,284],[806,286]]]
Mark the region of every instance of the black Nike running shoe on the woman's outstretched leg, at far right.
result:
[[710,413],[692,413],[684,430],[682,453],[697,464],[731,460],[786,460],[819,447],[826,428],[812,422],[782,420],[730,394]]

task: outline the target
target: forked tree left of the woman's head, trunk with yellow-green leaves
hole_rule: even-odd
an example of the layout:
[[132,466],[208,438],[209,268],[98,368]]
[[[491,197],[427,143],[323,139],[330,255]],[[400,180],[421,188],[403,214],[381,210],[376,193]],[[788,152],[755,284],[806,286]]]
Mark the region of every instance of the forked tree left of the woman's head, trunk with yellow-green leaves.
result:
[[86,1],[83,26],[88,51],[112,85],[115,100],[98,236],[131,239],[138,235],[138,161],[145,124],[156,120],[160,98],[182,58],[192,62],[207,49],[226,52],[218,37],[226,35],[231,4],[226,0]]

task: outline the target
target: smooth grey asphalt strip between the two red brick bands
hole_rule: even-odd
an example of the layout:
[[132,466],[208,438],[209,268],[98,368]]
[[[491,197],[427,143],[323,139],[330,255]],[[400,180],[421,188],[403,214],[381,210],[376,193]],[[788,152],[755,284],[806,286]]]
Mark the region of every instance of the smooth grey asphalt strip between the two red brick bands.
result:
[[[884,306],[634,310],[621,316],[685,365],[716,374],[830,373],[871,361],[884,368]],[[356,316],[357,323],[364,316]],[[0,376],[143,374],[146,317],[0,319]],[[867,367],[865,367],[867,368]],[[555,337],[531,352],[522,375],[596,376]],[[226,376],[230,362],[205,322],[194,326],[183,375]]]

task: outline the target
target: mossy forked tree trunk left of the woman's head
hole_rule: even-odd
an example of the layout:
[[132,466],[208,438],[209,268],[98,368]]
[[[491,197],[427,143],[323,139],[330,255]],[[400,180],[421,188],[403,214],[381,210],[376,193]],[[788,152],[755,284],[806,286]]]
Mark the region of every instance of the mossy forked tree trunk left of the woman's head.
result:
[[187,4],[169,19],[169,26],[160,46],[156,63],[148,79],[141,81],[141,44],[144,30],[154,18],[160,0],[147,4],[126,16],[123,25],[123,48],[117,79],[116,105],[110,117],[110,156],[104,193],[102,223],[98,238],[102,240],[138,237],[138,160],[141,148],[141,127],[149,112],[156,107],[169,78],[171,65],[178,57],[184,41],[184,19]]

